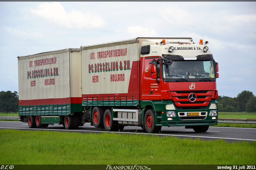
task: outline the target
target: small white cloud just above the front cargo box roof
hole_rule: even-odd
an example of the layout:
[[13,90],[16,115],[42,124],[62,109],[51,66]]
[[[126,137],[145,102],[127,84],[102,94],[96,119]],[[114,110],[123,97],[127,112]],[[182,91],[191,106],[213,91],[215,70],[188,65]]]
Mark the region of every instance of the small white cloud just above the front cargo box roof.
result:
[[150,30],[149,28],[143,28],[141,26],[132,26],[127,28],[128,34],[132,37],[156,37],[158,32]]

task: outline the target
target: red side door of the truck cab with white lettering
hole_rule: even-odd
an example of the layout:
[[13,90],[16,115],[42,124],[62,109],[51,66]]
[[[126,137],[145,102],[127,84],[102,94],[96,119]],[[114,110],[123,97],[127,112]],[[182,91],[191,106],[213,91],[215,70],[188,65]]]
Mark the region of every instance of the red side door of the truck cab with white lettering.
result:
[[162,80],[159,58],[145,58],[142,64],[142,100],[161,99]]

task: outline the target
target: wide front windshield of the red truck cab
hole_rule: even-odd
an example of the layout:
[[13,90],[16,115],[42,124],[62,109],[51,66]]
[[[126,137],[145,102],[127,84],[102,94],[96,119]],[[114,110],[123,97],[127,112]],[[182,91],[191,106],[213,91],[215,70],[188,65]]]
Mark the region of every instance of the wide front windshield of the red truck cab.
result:
[[164,79],[209,79],[216,78],[213,60],[173,61],[162,65]]

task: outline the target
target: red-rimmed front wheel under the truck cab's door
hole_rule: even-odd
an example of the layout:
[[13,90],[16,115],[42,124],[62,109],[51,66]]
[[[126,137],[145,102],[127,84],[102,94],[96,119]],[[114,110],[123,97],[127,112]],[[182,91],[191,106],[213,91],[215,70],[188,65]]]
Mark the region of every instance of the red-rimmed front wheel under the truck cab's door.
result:
[[156,126],[155,113],[153,109],[146,111],[145,114],[145,129],[148,133],[155,133],[161,130],[161,126]]

